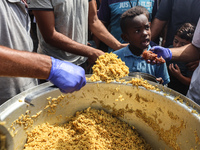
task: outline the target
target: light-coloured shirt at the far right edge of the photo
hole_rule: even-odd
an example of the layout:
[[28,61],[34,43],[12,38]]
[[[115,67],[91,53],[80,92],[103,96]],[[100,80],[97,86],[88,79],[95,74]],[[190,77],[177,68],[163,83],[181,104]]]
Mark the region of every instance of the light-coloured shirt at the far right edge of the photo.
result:
[[[192,44],[200,48],[200,19],[196,26]],[[200,105],[200,64],[192,75],[190,88],[186,96]]]

